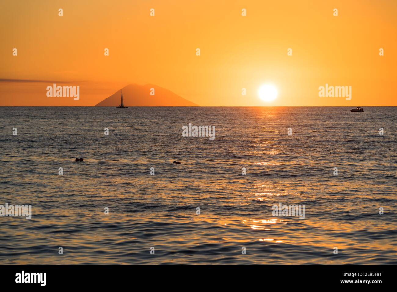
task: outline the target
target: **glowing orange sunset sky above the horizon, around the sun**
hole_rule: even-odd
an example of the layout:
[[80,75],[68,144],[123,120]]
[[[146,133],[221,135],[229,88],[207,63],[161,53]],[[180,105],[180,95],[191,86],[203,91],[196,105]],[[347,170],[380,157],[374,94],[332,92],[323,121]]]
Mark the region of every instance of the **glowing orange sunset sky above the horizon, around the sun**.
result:
[[[396,15],[395,0],[2,0],[0,105],[93,106],[152,83],[201,106],[397,106]],[[80,99],[47,97],[52,81]],[[326,83],[352,99],[319,97]]]

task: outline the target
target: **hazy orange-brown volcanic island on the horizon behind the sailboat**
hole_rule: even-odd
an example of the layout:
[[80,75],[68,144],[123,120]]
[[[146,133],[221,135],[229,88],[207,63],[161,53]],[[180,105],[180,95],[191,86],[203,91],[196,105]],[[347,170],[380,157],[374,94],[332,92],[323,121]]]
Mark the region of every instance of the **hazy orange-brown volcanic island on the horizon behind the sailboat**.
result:
[[[154,89],[154,95],[150,95]],[[125,106],[198,106],[172,91],[154,84],[129,84],[95,106],[118,106],[123,91]]]

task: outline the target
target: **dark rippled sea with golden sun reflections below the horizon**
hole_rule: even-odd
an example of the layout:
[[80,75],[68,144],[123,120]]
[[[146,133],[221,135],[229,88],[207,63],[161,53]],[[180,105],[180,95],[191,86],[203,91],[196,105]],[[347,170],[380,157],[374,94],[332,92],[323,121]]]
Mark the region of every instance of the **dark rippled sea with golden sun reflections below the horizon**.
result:
[[397,108],[350,109],[1,107],[0,263],[397,264]]

